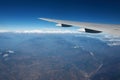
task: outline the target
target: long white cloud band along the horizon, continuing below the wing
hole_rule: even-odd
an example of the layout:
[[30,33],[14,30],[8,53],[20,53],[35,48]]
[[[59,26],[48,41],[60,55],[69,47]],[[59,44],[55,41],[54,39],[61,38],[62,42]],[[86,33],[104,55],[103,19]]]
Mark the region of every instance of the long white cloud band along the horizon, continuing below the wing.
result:
[[75,37],[87,36],[92,38],[97,38],[105,43],[108,46],[120,46],[120,37],[110,36],[108,34],[90,34],[84,33],[84,29],[79,30],[71,30],[71,29],[35,29],[35,30],[0,30],[0,33],[80,33],[79,35],[75,35]]

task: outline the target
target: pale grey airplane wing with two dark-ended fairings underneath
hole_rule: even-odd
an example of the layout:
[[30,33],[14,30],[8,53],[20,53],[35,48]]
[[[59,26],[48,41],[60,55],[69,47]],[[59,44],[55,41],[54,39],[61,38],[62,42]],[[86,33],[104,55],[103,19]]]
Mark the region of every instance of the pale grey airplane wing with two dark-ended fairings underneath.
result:
[[48,18],[39,18],[39,19],[57,23],[61,27],[77,26],[77,27],[85,28],[85,31],[88,33],[104,32],[111,35],[120,36],[120,25],[74,22],[74,21],[56,20],[56,19],[48,19]]

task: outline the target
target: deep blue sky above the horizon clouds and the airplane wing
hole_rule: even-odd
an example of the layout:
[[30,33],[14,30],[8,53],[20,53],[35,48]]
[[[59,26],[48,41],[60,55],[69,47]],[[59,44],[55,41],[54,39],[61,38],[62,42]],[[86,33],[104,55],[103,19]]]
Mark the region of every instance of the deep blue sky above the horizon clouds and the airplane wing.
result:
[[56,28],[37,18],[120,24],[119,0],[0,0],[0,29]]

